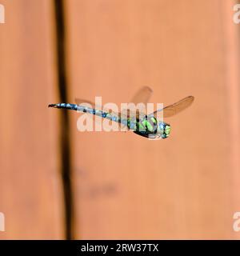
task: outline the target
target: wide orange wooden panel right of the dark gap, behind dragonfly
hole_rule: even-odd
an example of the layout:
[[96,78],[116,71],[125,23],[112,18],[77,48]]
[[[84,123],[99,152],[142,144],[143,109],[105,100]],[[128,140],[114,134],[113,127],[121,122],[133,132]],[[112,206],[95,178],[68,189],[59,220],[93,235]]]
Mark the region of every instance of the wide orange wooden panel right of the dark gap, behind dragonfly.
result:
[[238,48],[232,5],[67,1],[72,102],[126,102],[144,85],[154,90],[152,102],[196,98],[167,120],[172,134],[157,142],[80,133],[79,114],[71,113],[78,238],[239,238],[232,229],[240,209],[239,161],[231,154],[239,154],[232,144],[238,116],[229,115],[238,103],[229,96],[229,82],[238,86],[230,72]]

